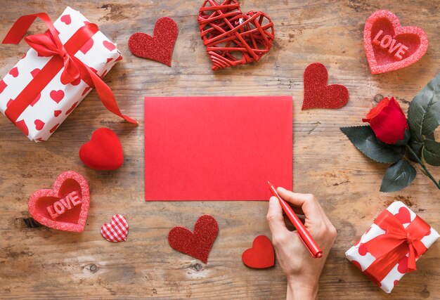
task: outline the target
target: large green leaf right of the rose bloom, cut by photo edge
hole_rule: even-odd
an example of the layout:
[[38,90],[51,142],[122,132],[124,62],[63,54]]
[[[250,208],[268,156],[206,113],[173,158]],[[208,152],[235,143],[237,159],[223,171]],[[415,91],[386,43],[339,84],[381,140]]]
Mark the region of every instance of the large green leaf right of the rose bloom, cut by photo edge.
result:
[[429,81],[410,103],[408,124],[411,135],[423,141],[440,124],[440,73]]

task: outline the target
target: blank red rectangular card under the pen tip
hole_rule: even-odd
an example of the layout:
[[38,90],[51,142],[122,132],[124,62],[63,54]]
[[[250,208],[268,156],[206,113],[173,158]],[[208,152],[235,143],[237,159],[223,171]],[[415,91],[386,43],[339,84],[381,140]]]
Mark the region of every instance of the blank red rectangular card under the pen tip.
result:
[[292,190],[292,97],[145,98],[145,200],[268,200]]

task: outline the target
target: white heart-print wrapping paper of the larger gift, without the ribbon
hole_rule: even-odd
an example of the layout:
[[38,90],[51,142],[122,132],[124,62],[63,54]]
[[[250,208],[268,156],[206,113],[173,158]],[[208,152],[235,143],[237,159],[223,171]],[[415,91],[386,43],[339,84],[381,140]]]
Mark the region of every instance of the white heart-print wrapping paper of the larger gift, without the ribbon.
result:
[[[53,22],[63,45],[87,24],[90,24],[89,20],[70,7],[67,7],[60,18]],[[112,66],[122,59],[116,45],[99,30],[84,45],[81,45],[75,57],[91,70],[96,71],[100,77],[107,74]],[[51,56],[39,56],[37,51],[30,48],[11,71],[0,80],[0,111],[2,113],[8,116],[6,111],[9,105],[28,85],[34,84],[34,77],[50,60]],[[17,119],[13,120],[10,117],[15,126],[30,140],[46,141],[91,91],[91,87],[81,78],[63,84],[60,79],[64,69],[65,67],[55,77],[47,80],[48,84],[39,91],[37,97],[29,105],[23,107],[24,110],[18,112]]]

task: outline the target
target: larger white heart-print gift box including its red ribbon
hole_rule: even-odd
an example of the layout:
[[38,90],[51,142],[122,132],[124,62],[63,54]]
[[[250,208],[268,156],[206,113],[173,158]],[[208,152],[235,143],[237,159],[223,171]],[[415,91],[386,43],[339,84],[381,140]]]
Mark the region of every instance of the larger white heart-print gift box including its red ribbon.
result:
[[54,23],[46,13],[23,15],[3,44],[18,44],[36,18],[48,31],[25,37],[30,50],[0,81],[0,111],[31,140],[46,141],[94,87],[108,110],[134,122],[101,80],[122,56],[79,11],[67,7]]

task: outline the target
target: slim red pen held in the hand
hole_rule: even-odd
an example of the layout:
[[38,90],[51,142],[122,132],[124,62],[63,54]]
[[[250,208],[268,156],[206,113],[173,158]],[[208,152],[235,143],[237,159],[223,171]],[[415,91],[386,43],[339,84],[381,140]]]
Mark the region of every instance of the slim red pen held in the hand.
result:
[[316,244],[315,240],[313,240],[313,237],[311,237],[309,230],[307,230],[304,227],[304,224],[301,221],[299,221],[292,207],[290,207],[290,205],[287,204],[287,202],[285,202],[285,200],[283,200],[283,198],[281,198],[280,195],[278,195],[272,183],[270,182],[267,183],[269,185],[269,190],[271,190],[271,193],[278,198],[281,207],[283,207],[283,211],[285,212],[285,214],[287,214],[287,217],[289,218],[290,222],[292,222],[293,226],[295,226],[295,228],[297,229],[299,238],[302,240],[306,248],[309,249],[311,256],[313,256],[313,258],[315,259],[320,259],[323,256],[323,250],[321,250],[318,244]]

